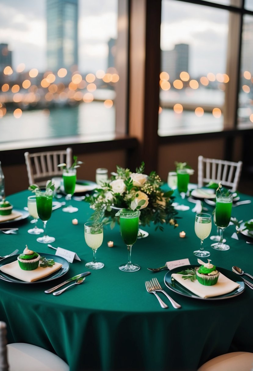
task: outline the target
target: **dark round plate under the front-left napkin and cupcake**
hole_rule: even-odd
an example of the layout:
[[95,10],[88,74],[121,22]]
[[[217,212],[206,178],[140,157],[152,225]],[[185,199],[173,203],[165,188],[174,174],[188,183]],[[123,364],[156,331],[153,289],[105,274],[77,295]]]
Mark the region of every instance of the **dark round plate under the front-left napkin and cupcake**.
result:
[[[52,255],[52,254],[47,254],[47,253],[39,253],[39,252],[38,252],[38,254],[40,256],[45,256],[47,259],[53,259],[55,262],[62,264],[62,267],[60,267],[60,269],[53,272],[51,275],[46,276],[45,278],[38,279],[37,281],[34,281],[34,282],[22,281],[18,278],[7,275],[6,273],[2,272],[1,270],[0,270],[0,279],[2,279],[4,281],[7,281],[7,282],[12,282],[12,283],[29,283],[29,284],[31,284],[31,283],[42,283],[42,282],[52,281],[56,278],[59,278],[59,277],[65,275],[65,273],[68,272],[68,270],[69,270],[68,260],[64,259],[61,256],[57,256],[57,255]],[[1,260],[0,261],[0,267],[14,262],[15,260],[17,260],[18,256],[19,256],[19,254],[9,256],[9,257],[6,257],[5,259]]]

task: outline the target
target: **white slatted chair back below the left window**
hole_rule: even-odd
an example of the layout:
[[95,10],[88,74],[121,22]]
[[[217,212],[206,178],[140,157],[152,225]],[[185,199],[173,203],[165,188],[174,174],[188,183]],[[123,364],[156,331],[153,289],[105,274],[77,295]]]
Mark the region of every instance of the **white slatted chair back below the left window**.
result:
[[52,177],[61,177],[62,170],[59,164],[65,163],[67,167],[71,166],[72,148],[59,151],[25,152],[26,168],[29,184],[44,186],[46,181]]

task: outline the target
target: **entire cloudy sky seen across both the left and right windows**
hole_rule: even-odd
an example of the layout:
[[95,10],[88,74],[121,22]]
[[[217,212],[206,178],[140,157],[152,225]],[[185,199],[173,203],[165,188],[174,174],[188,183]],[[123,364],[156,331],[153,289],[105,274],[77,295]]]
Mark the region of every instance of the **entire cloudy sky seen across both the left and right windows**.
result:
[[[107,68],[108,40],[117,37],[118,0],[79,0],[79,70]],[[0,0],[0,43],[13,51],[13,66],[46,70],[46,0]],[[162,2],[161,49],[190,45],[190,73],[226,72],[225,10]],[[218,56],[218,58],[217,58]]]

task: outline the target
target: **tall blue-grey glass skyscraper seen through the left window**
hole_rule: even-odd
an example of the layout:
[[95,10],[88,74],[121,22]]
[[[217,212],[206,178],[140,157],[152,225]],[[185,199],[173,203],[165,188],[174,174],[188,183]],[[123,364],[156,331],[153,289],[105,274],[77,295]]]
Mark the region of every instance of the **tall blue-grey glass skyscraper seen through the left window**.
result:
[[78,0],[47,0],[47,68],[78,66]]

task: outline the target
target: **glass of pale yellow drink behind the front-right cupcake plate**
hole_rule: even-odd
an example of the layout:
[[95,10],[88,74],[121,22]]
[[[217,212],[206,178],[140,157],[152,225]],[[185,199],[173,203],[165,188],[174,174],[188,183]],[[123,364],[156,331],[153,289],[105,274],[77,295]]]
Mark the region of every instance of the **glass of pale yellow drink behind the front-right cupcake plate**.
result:
[[196,256],[206,257],[210,256],[209,251],[205,251],[203,247],[203,240],[206,239],[211,233],[212,217],[210,214],[199,213],[195,216],[195,233],[200,238],[200,249],[195,250],[193,253]]

